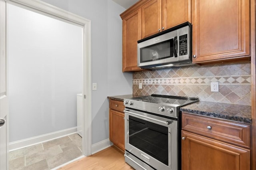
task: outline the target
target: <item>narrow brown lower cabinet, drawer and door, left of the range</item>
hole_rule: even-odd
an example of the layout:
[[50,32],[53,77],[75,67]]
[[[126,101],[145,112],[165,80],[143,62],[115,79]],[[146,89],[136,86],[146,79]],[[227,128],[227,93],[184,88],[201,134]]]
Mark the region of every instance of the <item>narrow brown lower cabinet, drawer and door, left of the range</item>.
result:
[[122,101],[110,100],[109,106],[109,138],[124,151],[124,105]]

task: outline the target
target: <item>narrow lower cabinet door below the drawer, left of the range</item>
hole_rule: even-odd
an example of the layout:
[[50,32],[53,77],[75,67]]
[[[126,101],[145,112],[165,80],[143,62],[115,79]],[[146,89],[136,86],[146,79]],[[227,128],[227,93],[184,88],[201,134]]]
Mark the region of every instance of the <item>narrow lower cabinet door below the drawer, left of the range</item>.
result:
[[124,113],[110,109],[109,120],[110,141],[124,150]]

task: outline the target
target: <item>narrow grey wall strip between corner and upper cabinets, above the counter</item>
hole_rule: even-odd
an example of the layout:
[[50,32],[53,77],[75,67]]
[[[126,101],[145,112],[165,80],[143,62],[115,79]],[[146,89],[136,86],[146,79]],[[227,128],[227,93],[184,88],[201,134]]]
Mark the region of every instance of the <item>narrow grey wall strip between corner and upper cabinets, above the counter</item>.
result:
[[[108,94],[132,94],[132,73],[122,73],[122,20],[124,12],[118,4],[108,1]],[[116,24],[114,24],[116,23]]]

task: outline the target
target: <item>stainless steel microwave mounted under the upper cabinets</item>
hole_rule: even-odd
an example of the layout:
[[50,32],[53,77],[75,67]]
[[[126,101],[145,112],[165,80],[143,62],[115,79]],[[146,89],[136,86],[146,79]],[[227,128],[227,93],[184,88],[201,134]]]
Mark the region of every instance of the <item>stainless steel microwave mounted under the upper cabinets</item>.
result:
[[138,41],[138,67],[162,69],[194,65],[189,22]]

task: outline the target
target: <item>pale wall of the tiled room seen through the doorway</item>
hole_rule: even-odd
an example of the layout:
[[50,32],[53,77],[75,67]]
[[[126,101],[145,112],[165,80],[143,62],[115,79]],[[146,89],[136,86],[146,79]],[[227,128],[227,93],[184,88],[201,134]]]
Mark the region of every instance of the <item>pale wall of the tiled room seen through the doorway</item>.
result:
[[76,127],[82,56],[82,28],[9,6],[10,142]]

